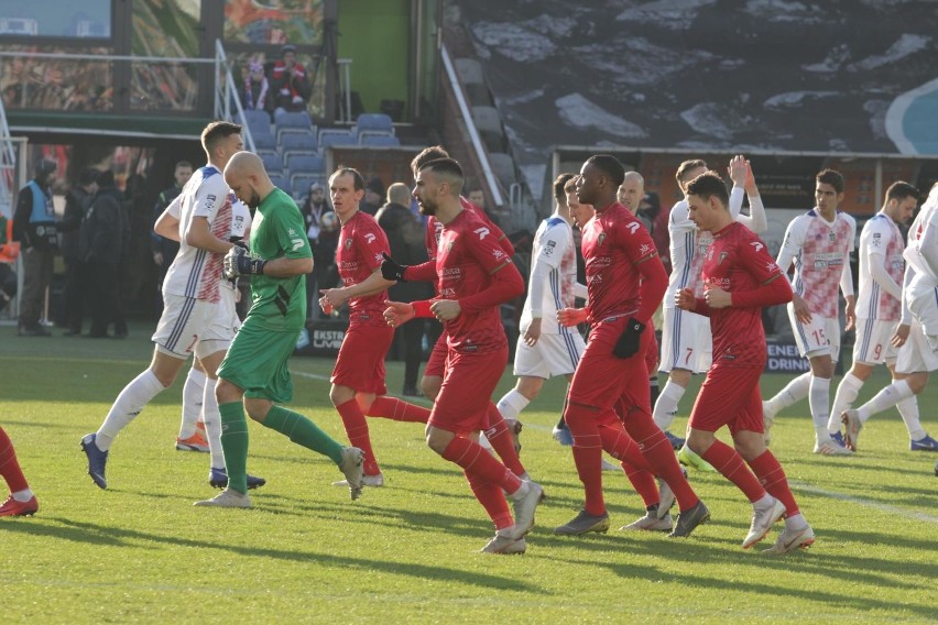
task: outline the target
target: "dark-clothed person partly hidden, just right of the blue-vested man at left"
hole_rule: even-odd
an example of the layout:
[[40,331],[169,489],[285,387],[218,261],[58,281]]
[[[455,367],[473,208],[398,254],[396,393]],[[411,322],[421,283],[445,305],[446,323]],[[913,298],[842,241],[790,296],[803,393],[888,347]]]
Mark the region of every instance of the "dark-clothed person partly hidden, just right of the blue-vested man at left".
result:
[[81,261],[78,229],[91,208],[98,191],[97,169],[87,168],[78,176],[78,184],[65,196],[65,215],[58,222],[62,232],[61,250],[65,257],[65,319],[66,337],[81,336],[85,299],[88,295],[88,270]]

